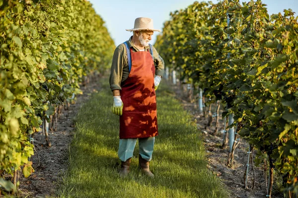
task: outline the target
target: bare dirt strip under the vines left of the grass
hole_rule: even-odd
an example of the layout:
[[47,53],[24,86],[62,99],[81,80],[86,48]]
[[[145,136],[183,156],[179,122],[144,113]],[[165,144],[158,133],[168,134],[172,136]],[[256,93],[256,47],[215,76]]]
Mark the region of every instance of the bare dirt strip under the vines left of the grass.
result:
[[[52,197],[55,196],[58,185],[67,171],[69,159],[69,144],[74,135],[74,117],[80,106],[86,102],[93,92],[100,89],[96,80],[81,87],[82,95],[77,96],[76,103],[71,104],[69,109],[63,110],[58,119],[56,131],[49,131],[51,147],[42,144],[41,132],[34,135],[34,146],[38,153],[32,156],[35,172],[28,178],[19,175],[20,197]],[[40,164],[38,160],[40,158]]]

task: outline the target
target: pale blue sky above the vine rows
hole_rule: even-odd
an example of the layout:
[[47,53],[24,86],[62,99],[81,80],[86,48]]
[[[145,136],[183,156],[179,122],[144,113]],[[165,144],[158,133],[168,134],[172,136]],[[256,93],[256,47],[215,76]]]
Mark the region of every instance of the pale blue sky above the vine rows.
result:
[[[149,17],[153,19],[154,28],[162,30],[163,23],[169,20],[169,13],[192,4],[195,0],[89,0],[96,13],[106,22],[106,27],[115,41],[115,45],[125,42],[132,35],[125,29],[133,29],[135,19]],[[201,0],[198,0],[201,1]],[[214,3],[217,0],[212,0]],[[244,0],[240,0],[241,2]],[[249,0],[246,0],[248,2]],[[291,8],[298,14],[298,0],[262,0],[267,4],[269,14],[283,12]],[[154,32],[151,44],[154,44]]]

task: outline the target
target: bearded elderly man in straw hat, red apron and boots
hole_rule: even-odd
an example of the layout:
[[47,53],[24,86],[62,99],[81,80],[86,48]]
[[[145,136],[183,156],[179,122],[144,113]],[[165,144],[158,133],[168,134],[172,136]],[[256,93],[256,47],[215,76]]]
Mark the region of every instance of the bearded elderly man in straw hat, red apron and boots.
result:
[[154,138],[157,132],[156,96],[164,62],[149,44],[155,30],[150,18],[135,20],[133,36],[115,51],[111,66],[110,88],[113,92],[112,111],[120,116],[118,156],[121,177],[129,173],[133,152],[139,139],[139,168],[149,177]]

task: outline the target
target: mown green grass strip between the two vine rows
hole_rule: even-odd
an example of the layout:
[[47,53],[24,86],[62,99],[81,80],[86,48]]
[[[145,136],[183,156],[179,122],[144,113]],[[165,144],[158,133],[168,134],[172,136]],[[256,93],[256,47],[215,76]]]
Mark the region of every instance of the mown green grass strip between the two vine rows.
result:
[[154,178],[138,170],[138,144],[129,176],[119,178],[119,117],[111,113],[113,99],[107,82],[101,80],[102,91],[93,94],[75,118],[69,170],[59,197],[228,197],[220,180],[206,167],[202,137],[190,115],[162,82],[157,90],[159,135],[150,162]]

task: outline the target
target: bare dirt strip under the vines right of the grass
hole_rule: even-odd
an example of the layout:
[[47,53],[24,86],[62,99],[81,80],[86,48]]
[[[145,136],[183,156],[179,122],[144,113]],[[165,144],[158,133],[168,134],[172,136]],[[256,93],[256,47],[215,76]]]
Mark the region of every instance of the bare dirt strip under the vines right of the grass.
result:
[[[188,110],[196,120],[198,129],[202,132],[204,137],[205,148],[207,151],[208,168],[212,172],[219,176],[226,188],[230,191],[230,198],[266,198],[265,177],[261,167],[254,167],[255,169],[255,187],[254,189],[244,189],[244,171],[247,164],[247,151],[249,148],[248,143],[241,139],[240,144],[235,150],[233,167],[228,168],[226,166],[228,156],[228,142],[227,146],[223,149],[220,148],[223,145],[224,134],[220,131],[224,130],[224,120],[222,118],[223,108],[220,109],[220,129],[217,136],[211,135],[215,130],[216,119],[213,119],[211,128],[205,128],[208,124],[207,119],[204,116],[200,116],[198,112],[198,106],[196,102],[191,103],[187,94],[186,85],[172,86],[175,90],[176,97],[179,99],[184,108]],[[213,113],[216,112],[216,104],[212,106]],[[252,187],[252,168],[249,167],[248,187]],[[275,194],[271,198],[284,198],[284,196],[275,191]]]

